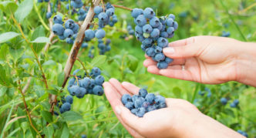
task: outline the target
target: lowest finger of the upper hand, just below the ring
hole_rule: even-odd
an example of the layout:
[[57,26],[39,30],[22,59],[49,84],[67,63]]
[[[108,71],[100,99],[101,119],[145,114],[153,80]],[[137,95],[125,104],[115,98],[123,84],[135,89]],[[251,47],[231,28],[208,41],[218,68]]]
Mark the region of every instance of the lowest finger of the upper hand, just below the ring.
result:
[[161,69],[159,74],[162,76],[167,76],[169,78],[193,81],[192,74],[187,70]]

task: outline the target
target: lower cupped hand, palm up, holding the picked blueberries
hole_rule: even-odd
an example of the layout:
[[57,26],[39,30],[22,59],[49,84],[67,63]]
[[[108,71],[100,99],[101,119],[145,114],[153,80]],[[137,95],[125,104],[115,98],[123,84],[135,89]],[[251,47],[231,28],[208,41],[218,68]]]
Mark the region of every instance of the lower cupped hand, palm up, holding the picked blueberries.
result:
[[123,106],[121,96],[138,94],[140,88],[116,79],[104,82],[103,86],[116,117],[133,137],[243,137],[200,113],[196,106],[184,99],[168,98],[167,108],[137,117]]

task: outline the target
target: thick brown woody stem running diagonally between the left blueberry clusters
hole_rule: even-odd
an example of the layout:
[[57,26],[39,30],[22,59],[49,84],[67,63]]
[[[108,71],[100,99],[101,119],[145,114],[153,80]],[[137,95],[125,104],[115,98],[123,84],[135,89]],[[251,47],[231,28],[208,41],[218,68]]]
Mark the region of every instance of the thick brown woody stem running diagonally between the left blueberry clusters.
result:
[[[69,58],[67,59],[66,66],[65,66],[65,69],[64,69],[65,77],[64,77],[64,81],[62,83],[62,88],[64,88],[66,86],[66,82],[69,79],[69,74],[72,70],[72,66],[74,65],[74,62],[76,61],[77,54],[79,52],[79,49],[80,49],[80,47],[83,43],[83,39],[85,37],[84,32],[86,31],[86,29],[89,29],[89,24],[93,20],[94,6],[99,5],[99,2],[100,2],[100,0],[94,0],[93,1],[93,5],[89,8],[89,11],[86,15],[86,19],[84,20],[83,25],[81,26],[81,28],[80,28],[80,30],[77,34],[77,37],[76,37],[76,40],[75,40],[74,44],[72,45],[72,49],[69,52]],[[54,105],[57,102],[56,98],[57,98],[57,96],[52,95],[52,98],[50,99],[50,103],[51,103],[50,112],[51,113],[53,113]]]

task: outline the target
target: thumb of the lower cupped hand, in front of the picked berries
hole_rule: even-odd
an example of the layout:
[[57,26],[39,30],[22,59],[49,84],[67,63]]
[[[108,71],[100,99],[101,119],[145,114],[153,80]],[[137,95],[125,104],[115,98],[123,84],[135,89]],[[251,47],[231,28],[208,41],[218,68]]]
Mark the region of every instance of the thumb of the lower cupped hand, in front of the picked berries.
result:
[[130,126],[133,130],[138,130],[138,126],[141,125],[141,120],[139,117],[133,115],[129,109],[126,109],[124,106],[116,106],[116,113],[120,115],[123,119],[123,123],[126,123],[127,126]]

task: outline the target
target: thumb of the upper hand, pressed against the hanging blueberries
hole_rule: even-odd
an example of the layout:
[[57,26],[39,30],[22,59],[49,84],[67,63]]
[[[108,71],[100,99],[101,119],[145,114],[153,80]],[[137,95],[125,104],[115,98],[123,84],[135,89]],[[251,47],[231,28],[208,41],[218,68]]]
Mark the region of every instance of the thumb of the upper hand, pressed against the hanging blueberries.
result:
[[200,46],[196,43],[185,46],[167,47],[163,49],[163,54],[169,58],[190,58],[200,55]]

